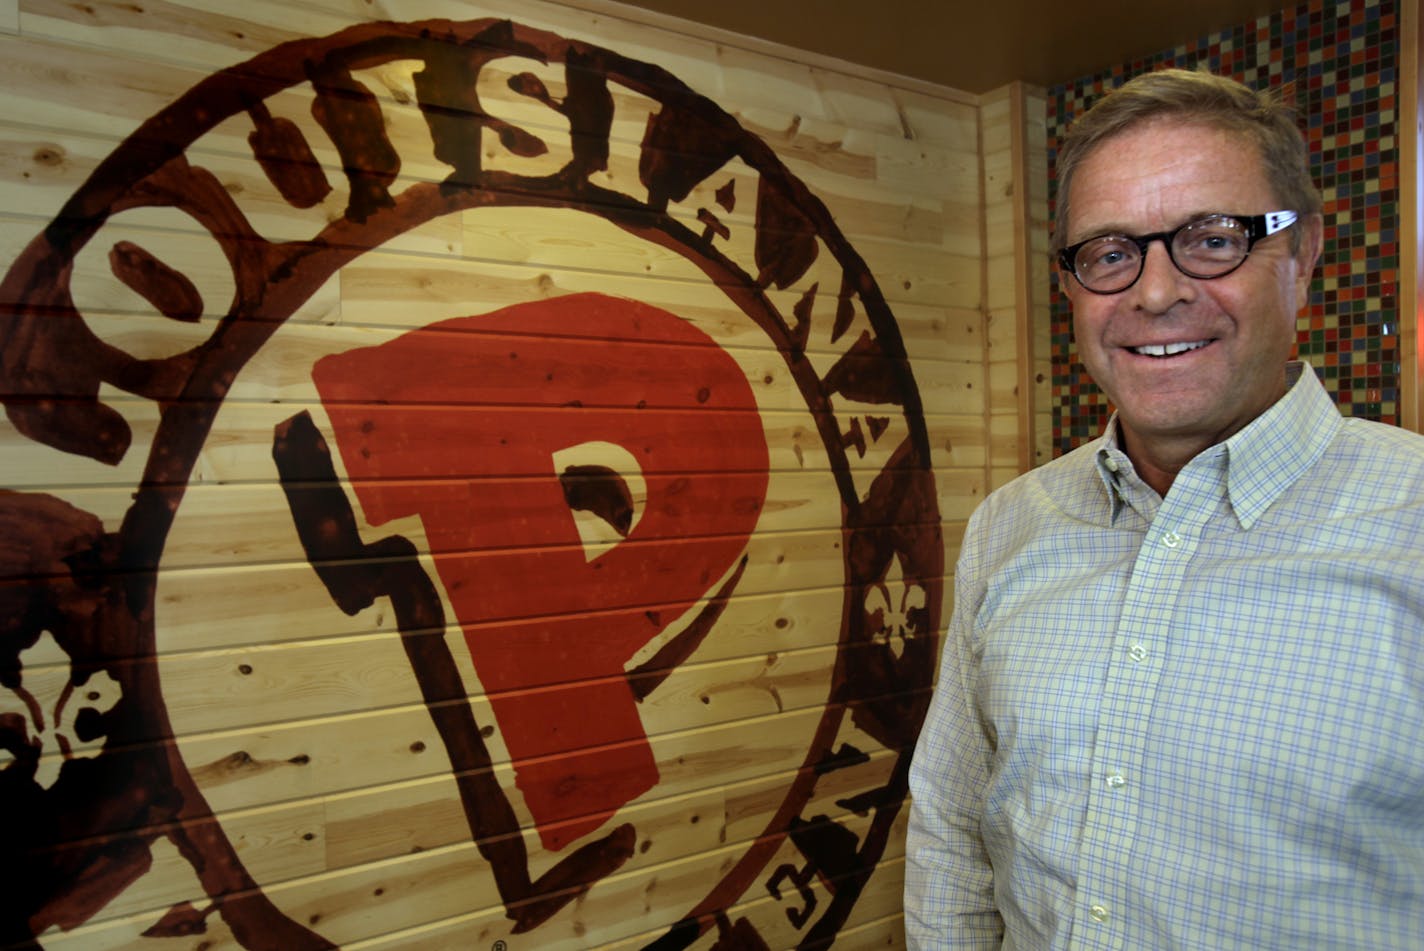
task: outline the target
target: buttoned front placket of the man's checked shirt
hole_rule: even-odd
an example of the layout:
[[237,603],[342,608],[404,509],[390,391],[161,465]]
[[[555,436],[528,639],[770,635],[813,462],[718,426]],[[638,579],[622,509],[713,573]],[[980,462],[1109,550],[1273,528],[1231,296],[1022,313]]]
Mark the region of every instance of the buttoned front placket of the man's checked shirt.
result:
[[[1209,505],[1158,510],[1138,550],[1098,715],[1088,814],[1079,848],[1071,948],[1128,948],[1131,921],[1124,897],[1145,779],[1152,705],[1168,661],[1172,616],[1182,578],[1196,550]],[[1200,497],[1196,495],[1199,500]],[[1195,508],[1195,511],[1192,511]]]

